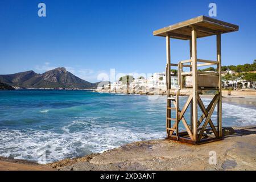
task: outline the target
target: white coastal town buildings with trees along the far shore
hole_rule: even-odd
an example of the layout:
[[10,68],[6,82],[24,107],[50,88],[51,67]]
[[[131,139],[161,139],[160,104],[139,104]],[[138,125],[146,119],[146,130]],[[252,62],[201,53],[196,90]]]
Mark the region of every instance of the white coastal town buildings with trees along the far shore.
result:
[[[215,72],[215,71],[205,71]],[[245,72],[255,75],[255,71]],[[247,79],[241,73],[226,70],[222,71],[222,88],[227,90],[250,90],[255,91],[256,81]],[[129,86],[127,86],[129,85]],[[178,78],[175,71],[171,73],[171,88],[179,88]],[[123,76],[115,82],[101,82],[97,87],[97,92],[110,93],[129,93],[129,94],[166,94],[166,74],[164,72],[154,73],[152,76],[145,78],[140,76]]]

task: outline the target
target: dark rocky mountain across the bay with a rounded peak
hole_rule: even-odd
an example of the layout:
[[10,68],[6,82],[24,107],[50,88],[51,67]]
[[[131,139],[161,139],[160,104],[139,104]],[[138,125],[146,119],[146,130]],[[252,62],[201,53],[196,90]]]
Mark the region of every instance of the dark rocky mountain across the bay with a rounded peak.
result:
[[20,88],[66,88],[93,89],[97,84],[82,80],[65,68],[56,68],[43,74],[27,71],[11,75],[0,75],[0,82]]

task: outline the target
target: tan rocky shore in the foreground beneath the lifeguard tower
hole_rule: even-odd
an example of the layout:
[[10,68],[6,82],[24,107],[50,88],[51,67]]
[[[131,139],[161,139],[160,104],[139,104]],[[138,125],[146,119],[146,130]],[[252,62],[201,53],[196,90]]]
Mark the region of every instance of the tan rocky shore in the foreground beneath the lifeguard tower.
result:
[[[193,146],[168,139],[134,142],[82,158],[39,165],[0,158],[1,170],[256,170],[256,126],[225,130],[224,140]],[[209,152],[217,164],[209,164]],[[9,160],[6,162],[6,160]],[[14,161],[13,161],[14,160]],[[189,164],[189,165],[188,165]]]

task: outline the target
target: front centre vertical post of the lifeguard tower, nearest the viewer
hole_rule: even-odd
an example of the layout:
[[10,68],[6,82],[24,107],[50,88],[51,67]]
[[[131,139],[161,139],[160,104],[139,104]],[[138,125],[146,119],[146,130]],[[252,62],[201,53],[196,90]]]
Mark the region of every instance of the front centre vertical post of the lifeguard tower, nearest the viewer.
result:
[[197,142],[197,52],[196,29],[192,27],[193,140]]

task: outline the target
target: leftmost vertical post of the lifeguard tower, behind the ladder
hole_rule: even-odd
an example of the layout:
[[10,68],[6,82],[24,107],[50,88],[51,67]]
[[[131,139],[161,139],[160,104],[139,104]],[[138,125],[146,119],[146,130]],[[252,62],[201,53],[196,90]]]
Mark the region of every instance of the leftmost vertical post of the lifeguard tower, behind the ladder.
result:
[[[170,97],[170,89],[171,89],[171,50],[170,50],[170,36],[166,36],[166,87],[167,87],[167,98]],[[167,99],[167,110],[166,110],[166,131],[167,137],[170,135],[170,131],[168,128],[171,128],[171,121],[167,118],[171,118],[171,110],[168,109],[171,107],[171,100]]]

